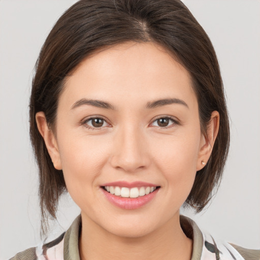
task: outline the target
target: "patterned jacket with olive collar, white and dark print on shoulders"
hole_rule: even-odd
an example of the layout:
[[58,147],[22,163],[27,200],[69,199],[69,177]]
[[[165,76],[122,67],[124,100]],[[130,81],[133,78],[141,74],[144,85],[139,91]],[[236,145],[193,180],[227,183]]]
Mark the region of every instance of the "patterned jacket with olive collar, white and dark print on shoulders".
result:
[[[180,216],[180,223],[185,235],[193,240],[191,260],[260,260],[260,250],[216,241],[210,235],[202,233],[198,225],[188,217]],[[80,230],[79,215],[69,230],[57,239],[20,252],[10,260],[80,260]]]

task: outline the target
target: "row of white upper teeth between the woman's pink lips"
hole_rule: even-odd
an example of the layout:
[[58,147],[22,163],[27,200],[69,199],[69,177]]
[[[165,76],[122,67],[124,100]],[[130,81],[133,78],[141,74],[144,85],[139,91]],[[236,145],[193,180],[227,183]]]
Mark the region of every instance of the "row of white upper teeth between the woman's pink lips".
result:
[[142,187],[118,187],[118,186],[102,186],[104,190],[120,198],[139,198],[152,193],[160,186],[142,186]]

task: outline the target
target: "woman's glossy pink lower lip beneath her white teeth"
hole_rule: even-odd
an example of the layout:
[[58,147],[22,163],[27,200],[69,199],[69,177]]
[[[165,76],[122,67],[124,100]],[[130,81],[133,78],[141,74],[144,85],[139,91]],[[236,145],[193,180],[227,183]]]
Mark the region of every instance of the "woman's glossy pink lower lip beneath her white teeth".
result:
[[143,207],[156,196],[159,190],[159,188],[156,188],[153,192],[138,198],[122,198],[111,194],[103,188],[101,189],[109,202],[122,209],[138,209]]

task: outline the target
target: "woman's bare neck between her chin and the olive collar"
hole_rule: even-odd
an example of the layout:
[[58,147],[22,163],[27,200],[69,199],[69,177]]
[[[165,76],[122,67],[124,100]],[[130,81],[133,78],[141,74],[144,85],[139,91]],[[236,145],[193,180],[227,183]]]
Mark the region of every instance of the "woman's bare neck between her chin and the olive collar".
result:
[[192,240],[183,233],[179,215],[142,237],[118,237],[82,218],[81,260],[191,259]]

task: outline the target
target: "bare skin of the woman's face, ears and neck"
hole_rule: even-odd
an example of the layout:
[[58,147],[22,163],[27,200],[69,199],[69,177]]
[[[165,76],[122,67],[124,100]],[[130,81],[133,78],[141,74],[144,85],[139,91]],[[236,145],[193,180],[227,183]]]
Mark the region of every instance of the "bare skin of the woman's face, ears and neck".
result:
[[[183,104],[146,108],[159,99]],[[81,99],[109,102],[115,110]],[[167,126],[158,118],[171,116]],[[93,129],[90,117],[102,117]],[[208,137],[201,134],[198,102],[188,72],[162,47],[124,43],[86,58],[66,80],[55,135],[45,115],[36,115],[54,167],[62,169],[71,197],[81,208],[81,259],[190,259],[192,241],[183,233],[179,209],[196,172],[207,162],[218,132],[214,111]],[[92,127],[92,128],[89,128]],[[160,188],[147,205],[112,205],[101,185],[144,181]]]

